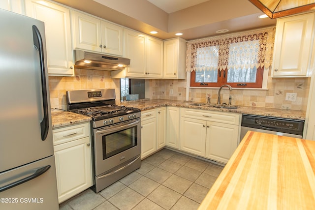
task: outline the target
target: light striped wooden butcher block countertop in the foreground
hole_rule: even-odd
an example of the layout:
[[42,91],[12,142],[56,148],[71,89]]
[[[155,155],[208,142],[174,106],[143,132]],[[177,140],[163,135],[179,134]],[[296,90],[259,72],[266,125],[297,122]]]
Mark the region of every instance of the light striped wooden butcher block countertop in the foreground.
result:
[[314,210],[315,141],[249,131],[198,210]]

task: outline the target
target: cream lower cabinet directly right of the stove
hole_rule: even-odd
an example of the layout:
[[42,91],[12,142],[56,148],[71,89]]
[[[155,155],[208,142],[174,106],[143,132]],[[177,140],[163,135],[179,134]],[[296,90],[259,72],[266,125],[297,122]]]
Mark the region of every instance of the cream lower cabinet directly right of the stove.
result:
[[166,145],[166,107],[141,112],[141,159]]

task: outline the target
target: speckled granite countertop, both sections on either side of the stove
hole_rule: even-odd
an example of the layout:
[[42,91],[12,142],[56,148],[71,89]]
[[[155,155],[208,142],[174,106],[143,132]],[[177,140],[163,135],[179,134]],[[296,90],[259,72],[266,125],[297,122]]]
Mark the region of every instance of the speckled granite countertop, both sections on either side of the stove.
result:
[[[212,111],[217,111],[217,112],[231,112],[231,113],[239,113],[239,114],[251,114],[251,115],[260,115],[260,116],[268,116],[268,117],[305,120],[305,113],[303,113],[300,110],[273,109],[273,108],[249,107],[249,106],[241,106],[238,109],[222,109],[222,108],[215,108],[215,107],[190,105],[192,103],[196,103],[196,102],[154,99],[154,100],[127,101],[127,102],[118,103],[117,105],[135,107],[135,108],[140,109],[141,111],[155,109],[157,107],[163,107],[163,106],[177,106],[177,107],[183,107],[183,108],[212,110]],[[79,115],[73,112],[67,112],[67,111],[58,110],[58,109],[51,109],[51,115],[52,115],[53,128],[58,128],[62,126],[67,126],[67,125],[71,125],[75,123],[81,123],[81,122],[92,120],[90,117],[87,117],[84,115]]]

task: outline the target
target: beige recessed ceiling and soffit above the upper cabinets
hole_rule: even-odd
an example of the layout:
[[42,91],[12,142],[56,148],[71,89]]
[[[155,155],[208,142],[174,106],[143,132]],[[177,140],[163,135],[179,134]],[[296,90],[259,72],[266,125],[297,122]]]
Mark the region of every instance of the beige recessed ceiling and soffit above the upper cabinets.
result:
[[[55,0],[160,39],[182,32],[186,40],[276,25],[249,0]],[[150,34],[151,35],[151,34]]]

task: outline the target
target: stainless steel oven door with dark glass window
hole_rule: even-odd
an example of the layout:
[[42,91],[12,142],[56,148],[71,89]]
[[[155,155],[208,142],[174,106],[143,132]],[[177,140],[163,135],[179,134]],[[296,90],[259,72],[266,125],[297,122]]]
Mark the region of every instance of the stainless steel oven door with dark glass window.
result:
[[94,129],[95,176],[141,153],[141,120]]

